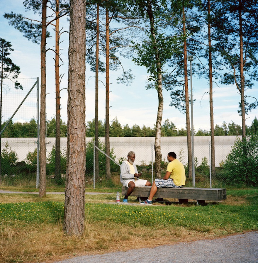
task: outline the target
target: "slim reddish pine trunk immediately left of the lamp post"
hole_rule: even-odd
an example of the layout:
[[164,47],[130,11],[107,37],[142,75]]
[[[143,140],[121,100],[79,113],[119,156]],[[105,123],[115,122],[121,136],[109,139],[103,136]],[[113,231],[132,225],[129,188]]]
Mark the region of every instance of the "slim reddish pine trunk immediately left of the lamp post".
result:
[[184,34],[184,83],[185,83],[185,103],[186,103],[186,135],[187,135],[187,151],[188,151],[188,176],[192,177],[192,147],[191,147],[191,127],[189,114],[189,92],[187,79],[187,52],[186,52],[186,27],[185,12],[183,6],[183,34]]

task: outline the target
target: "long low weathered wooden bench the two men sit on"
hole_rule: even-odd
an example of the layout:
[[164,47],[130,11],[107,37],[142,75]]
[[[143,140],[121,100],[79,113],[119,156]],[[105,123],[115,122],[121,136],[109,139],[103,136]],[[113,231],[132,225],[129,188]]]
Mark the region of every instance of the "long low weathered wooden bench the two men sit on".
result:
[[[148,197],[151,186],[136,186],[131,196]],[[127,187],[122,186],[122,195],[127,192]],[[227,199],[226,189],[218,188],[158,188],[154,198],[176,198],[179,203],[187,203],[189,199],[196,200],[198,205],[204,205],[205,201],[222,201]]]

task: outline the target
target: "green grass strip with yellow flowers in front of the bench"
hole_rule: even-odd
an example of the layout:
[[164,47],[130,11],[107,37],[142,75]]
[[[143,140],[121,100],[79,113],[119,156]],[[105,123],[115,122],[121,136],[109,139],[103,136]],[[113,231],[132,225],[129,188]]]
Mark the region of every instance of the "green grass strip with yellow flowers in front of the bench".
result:
[[[233,231],[258,228],[256,206],[124,206],[86,204],[86,210],[95,209],[94,220],[113,221],[125,225],[152,228],[185,227],[189,230],[223,228],[231,225]],[[207,228],[208,226],[208,228]],[[207,230],[206,230],[207,231]]]

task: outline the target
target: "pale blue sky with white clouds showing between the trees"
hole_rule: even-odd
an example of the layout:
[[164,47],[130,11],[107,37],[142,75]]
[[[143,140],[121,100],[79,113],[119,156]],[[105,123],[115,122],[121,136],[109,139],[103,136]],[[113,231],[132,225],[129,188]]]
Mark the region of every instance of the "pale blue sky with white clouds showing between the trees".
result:
[[[19,78],[40,78],[40,45],[32,43],[23,37],[17,29],[10,26],[8,20],[3,17],[4,13],[21,13],[29,18],[39,18],[33,12],[25,12],[22,0],[0,0],[0,38],[11,42],[14,51],[9,57],[13,63],[21,68]],[[66,18],[60,21],[60,26],[64,30],[68,28],[69,23]],[[52,28],[48,28],[51,34],[54,33]],[[55,38],[47,40],[47,47],[54,48]],[[60,104],[61,119],[67,123],[67,78],[68,78],[68,33],[61,35],[60,48],[63,65],[60,67],[60,74],[64,74],[60,85]],[[47,52],[47,83],[46,83],[46,113],[47,120],[55,116],[55,68],[54,52]],[[194,62],[194,61],[193,61]],[[129,59],[123,59],[123,66],[132,70],[135,76],[130,86],[117,84],[116,78],[120,71],[110,72],[110,124],[117,117],[122,126],[128,124],[130,127],[137,124],[154,127],[157,118],[158,94],[155,89],[146,90],[147,70],[144,67],[135,65]],[[194,67],[194,64],[192,64]],[[190,66],[189,66],[190,68]],[[104,75],[100,80],[105,83]],[[102,82],[99,84],[99,119],[105,121],[105,87]],[[190,70],[189,70],[189,93],[190,93]],[[209,84],[206,79],[199,79],[193,74],[192,77],[193,99],[193,126],[194,130],[210,130],[210,109],[209,109]],[[251,90],[246,91],[246,95],[257,97],[258,84],[256,83]],[[176,108],[169,106],[169,91],[163,90],[164,109],[162,123],[169,119],[177,129],[186,128],[185,114],[180,113]],[[240,94],[236,87],[219,84],[213,85],[213,113],[214,125],[222,125],[223,121],[227,124],[236,123],[241,126],[241,116],[239,116],[238,105]],[[190,113],[191,114],[191,113]],[[95,116],[95,78],[94,73],[86,66],[86,122],[92,121]],[[258,118],[258,109],[252,110],[246,116],[246,125],[250,126],[254,118]],[[191,120],[191,115],[190,115]]]

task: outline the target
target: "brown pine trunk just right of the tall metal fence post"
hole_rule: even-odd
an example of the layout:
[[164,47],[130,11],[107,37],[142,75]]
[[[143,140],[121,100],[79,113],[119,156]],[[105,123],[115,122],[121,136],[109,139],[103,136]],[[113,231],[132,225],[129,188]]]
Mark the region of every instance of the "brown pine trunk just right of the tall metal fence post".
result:
[[39,197],[46,195],[46,32],[47,32],[47,0],[42,1],[42,33],[40,43],[40,171]]

